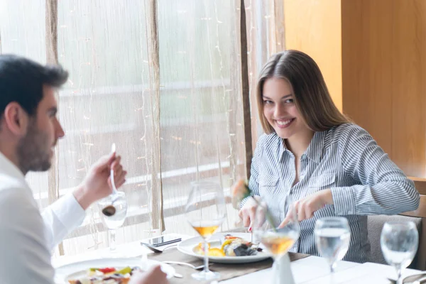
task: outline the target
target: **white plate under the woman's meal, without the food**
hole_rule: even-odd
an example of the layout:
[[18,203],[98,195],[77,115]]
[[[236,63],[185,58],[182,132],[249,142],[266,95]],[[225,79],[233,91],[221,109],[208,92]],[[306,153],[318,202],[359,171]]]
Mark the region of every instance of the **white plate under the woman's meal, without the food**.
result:
[[[243,238],[247,241],[250,240],[251,234],[249,233],[217,233],[214,234],[210,240],[210,247],[220,247],[220,238],[226,234],[231,234],[232,236],[238,236],[240,238]],[[195,236],[194,238],[187,239],[185,241],[181,241],[180,244],[178,244],[178,250],[182,253],[188,254],[190,256],[195,256],[197,258],[202,259],[204,256],[201,256],[200,254],[195,253],[192,251],[197,244],[202,242],[201,236]],[[263,248],[264,249],[264,248]],[[258,252],[256,256],[209,256],[209,261],[217,262],[217,263],[251,263],[256,261],[263,261],[266,258],[271,257],[271,254],[266,252]]]

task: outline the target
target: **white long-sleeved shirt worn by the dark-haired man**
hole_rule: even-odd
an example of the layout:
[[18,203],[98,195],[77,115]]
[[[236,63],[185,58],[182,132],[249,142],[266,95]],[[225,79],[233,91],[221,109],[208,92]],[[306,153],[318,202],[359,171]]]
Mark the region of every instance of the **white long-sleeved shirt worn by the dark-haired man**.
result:
[[0,283],[54,283],[50,252],[84,215],[72,194],[40,214],[21,170],[0,153]]

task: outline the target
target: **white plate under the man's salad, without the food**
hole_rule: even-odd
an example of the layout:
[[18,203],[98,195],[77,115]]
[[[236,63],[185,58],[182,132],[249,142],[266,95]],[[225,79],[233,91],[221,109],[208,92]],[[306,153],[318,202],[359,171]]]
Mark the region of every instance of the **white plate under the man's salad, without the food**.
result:
[[138,266],[140,268],[149,269],[152,266],[158,266],[159,264],[161,265],[161,269],[167,274],[168,279],[175,275],[175,268],[166,263],[160,263],[160,261],[153,261],[152,259],[148,259],[147,262],[143,262],[141,258],[99,258],[90,261],[70,263],[56,268],[55,283],[68,284],[68,280],[84,277],[87,273],[87,269],[93,267],[125,268],[126,266]]

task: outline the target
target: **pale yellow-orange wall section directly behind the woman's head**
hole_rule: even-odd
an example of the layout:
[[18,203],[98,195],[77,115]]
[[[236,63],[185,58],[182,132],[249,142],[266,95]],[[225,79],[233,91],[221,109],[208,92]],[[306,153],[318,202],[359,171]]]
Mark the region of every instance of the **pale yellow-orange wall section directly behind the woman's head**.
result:
[[341,0],[284,0],[285,48],[320,66],[334,104],[342,110]]

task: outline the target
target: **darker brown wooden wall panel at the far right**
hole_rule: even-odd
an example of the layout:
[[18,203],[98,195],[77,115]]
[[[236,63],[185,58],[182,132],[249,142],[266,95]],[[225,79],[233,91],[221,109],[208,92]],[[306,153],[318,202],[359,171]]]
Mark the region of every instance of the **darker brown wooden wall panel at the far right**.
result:
[[426,178],[426,1],[342,0],[343,111]]

